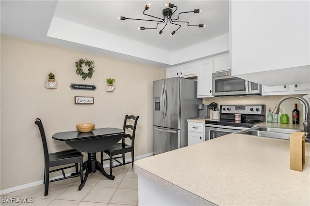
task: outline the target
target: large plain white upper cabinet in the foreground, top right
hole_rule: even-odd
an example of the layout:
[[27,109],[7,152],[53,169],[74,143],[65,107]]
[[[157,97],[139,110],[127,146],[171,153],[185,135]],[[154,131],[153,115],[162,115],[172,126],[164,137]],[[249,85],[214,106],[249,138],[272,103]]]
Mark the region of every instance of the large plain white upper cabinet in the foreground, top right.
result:
[[229,2],[232,75],[266,86],[310,83],[310,1]]

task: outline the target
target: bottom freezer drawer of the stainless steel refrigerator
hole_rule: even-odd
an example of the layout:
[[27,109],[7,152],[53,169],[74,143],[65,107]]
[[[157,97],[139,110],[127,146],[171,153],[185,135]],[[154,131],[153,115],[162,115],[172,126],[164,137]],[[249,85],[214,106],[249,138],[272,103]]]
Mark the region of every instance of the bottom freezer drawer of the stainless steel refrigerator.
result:
[[153,154],[168,152],[180,148],[180,130],[153,127]]

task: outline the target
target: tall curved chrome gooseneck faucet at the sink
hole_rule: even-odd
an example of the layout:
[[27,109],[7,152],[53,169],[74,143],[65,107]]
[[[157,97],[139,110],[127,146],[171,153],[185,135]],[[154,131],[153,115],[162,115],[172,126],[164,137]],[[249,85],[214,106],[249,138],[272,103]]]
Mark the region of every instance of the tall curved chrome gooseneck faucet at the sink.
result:
[[305,108],[306,108],[306,111],[305,111],[305,116],[304,116],[304,132],[306,133],[305,134],[305,137],[306,139],[310,139],[310,106],[309,106],[309,103],[306,99],[302,98],[302,97],[297,97],[297,96],[293,96],[293,95],[290,95],[290,96],[285,96],[283,98],[281,98],[278,103],[276,104],[275,106],[275,109],[272,111],[272,113],[276,113],[276,114],[279,114],[279,110],[280,110],[280,104],[284,101],[284,100],[287,100],[287,99],[290,99],[290,98],[294,98],[294,99],[298,99],[300,100],[302,103],[305,104]]

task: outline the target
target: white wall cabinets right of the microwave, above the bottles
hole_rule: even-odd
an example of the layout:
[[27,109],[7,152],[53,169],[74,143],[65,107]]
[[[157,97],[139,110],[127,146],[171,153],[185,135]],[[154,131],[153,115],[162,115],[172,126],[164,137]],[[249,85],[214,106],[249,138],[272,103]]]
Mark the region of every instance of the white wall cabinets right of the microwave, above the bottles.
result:
[[309,94],[310,84],[282,85],[268,87],[263,85],[263,96]]

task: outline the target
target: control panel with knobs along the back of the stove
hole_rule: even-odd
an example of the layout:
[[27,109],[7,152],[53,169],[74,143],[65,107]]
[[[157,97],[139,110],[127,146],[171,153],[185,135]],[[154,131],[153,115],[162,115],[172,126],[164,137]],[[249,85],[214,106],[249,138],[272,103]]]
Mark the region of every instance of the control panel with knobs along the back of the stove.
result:
[[221,105],[221,114],[245,114],[245,115],[264,115],[264,104],[247,104],[247,105]]

